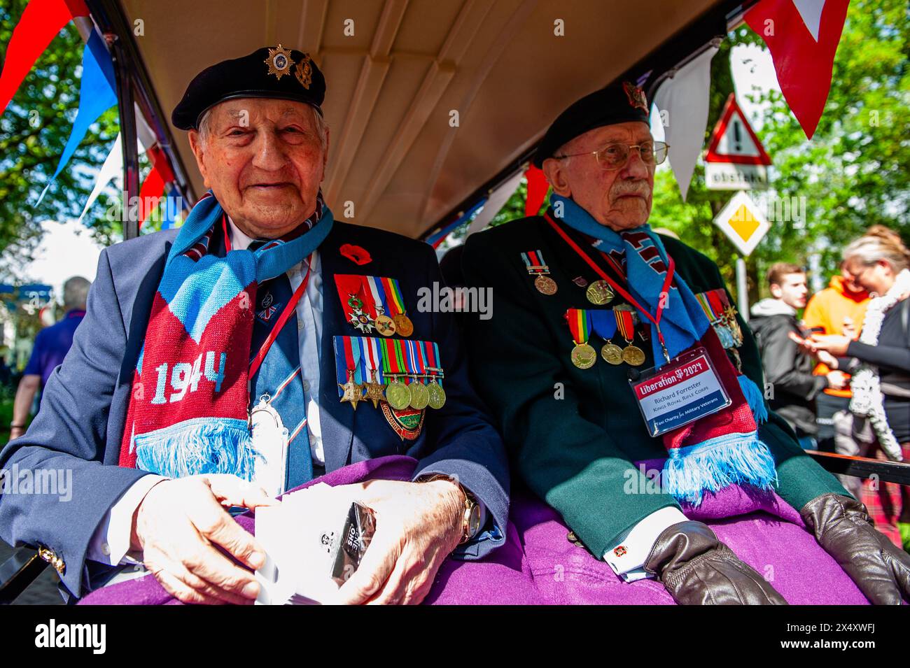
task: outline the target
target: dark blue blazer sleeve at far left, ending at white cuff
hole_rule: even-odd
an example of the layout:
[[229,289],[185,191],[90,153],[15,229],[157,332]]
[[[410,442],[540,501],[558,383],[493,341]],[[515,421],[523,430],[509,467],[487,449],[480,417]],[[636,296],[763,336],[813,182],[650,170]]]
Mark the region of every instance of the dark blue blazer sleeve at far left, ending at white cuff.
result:
[[[0,469],[45,494],[0,494],[0,538],[43,545],[65,564],[61,580],[82,595],[92,533],[145,471],[116,464],[121,434],[107,433],[126,330],[108,263],[101,253],[86,317],[73,347],[45,385],[41,410],[21,438],[0,449]],[[46,487],[45,487],[46,485]]]

